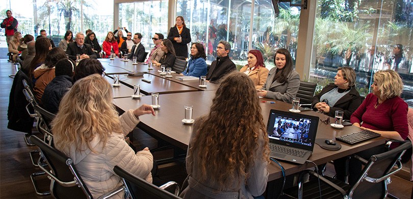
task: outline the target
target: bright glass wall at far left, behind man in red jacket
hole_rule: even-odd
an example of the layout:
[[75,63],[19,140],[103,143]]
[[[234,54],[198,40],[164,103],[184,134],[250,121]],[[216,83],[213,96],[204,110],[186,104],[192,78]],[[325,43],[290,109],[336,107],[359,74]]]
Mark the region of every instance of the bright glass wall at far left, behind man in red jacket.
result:
[[3,14],[11,8],[13,16],[19,21],[18,30],[22,35],[36,37],[44,29],[56,45],[63,39],[66,30],[75,34],[85,33],[87,29],[96,33],[101,44],[113,27],[113,0],[20,0],[11,1],[11,5],[9,2],[0,5],[0,10]]

